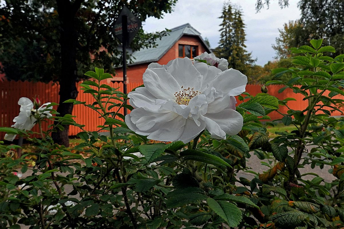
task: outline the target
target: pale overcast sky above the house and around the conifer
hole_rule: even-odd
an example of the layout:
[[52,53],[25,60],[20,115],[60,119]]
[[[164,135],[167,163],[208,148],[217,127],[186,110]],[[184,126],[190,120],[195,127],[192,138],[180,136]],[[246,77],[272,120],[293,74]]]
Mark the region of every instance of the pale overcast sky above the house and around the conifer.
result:
[[[174,11],[165,14],[163,19],[148,18],[143,23],[143,29],[147,32],[162,31],[165,28],[172,29],[176,26],[190,23],[202,37],[209,39],[212,48],[218,46],[220,39],[219,24],[223,3],[226,0],[178,0]],[[243,20],[246,25],[246,50],[252,52],[252,57],[257,58],[256,64],[264,65],[276,56],[271,47],[279,36],[278,29],[283,28],[284,23],[300,18],[300,10],[297,7],[298,0],[289,0],[289,7],[281,9],[278,0],[270,1],[270,7],[261,9],[256,13],[256,0],[232,0],[233,4],[243,10]]]

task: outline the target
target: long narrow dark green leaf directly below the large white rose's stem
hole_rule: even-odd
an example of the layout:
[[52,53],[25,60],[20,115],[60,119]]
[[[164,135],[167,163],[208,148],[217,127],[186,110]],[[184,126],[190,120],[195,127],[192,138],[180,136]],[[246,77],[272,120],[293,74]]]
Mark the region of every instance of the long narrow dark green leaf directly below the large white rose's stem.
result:
[[222,167],[232,167],[220,157],[198,150],[184,150],[180,153],[180,156],[184,160],[199,161]]

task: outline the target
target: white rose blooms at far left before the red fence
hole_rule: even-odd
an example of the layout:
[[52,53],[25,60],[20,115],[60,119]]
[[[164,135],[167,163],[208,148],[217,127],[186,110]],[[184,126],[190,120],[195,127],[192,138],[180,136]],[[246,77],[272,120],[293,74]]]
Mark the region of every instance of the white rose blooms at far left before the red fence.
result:
[[[49,118],[52,116],[50,111],[46,111],[49,107],[50,102],[44,103],[40,108],[33,109],[33,102],[26,97],[21,97],[18,101],[20,105],[20,112],[17,117],[13,119],[14,124],[11,127],[20,129],[20,130],[31,130],[35,125],[36,118],[32,113],[41,114],[41,117]],[[13,141],[17,134],[5,134],[4,139],[7,141]]]

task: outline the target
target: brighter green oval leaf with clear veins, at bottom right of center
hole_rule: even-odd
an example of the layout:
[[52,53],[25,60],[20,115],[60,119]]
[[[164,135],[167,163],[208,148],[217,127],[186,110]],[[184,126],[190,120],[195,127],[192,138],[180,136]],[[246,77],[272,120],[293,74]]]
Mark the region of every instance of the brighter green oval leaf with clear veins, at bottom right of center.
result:
[[207,199],[209,207],[222,219],[224,219],[229,227],[236,227],[241,222],[243,216],[241,210],[232,203],[223,200]]

